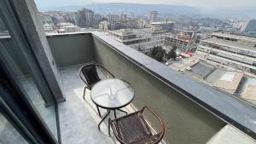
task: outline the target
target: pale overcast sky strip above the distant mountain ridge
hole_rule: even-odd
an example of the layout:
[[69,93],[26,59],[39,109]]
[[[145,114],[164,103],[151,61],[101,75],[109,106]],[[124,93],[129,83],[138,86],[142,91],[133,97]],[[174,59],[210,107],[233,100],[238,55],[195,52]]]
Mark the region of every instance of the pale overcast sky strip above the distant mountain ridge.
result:
[[256,7],[256,0],[35,0],[38,8],[84,5],[90,3],[156,3],[203,8]]

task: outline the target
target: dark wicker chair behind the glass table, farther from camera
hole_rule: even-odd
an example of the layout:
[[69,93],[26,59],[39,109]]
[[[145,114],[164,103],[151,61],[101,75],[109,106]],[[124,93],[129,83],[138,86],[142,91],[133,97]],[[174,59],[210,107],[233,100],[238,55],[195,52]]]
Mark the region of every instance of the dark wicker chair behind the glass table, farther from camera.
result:
[[[113,74],[109,72],[105,67],[96,64],[95,62],[90,62],[85,64],[79,73],[79,77],[84,81],[84,96],[85,90],[91,89],[94,84],[106,78],[114,78]],[[102,117],[99,107],[97,107],[100,117]]]

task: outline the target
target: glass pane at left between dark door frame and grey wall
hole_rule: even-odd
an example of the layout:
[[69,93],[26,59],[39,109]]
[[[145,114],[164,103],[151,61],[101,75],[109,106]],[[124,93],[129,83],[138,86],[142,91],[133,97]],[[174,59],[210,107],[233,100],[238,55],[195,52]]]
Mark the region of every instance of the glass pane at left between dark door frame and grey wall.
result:
[[32,52],[19,37],[14,37],[15,32],[8,32],[5,23],[0,18],[0,60],[8,67],[15,83],[20,86],[42,122],[57,139],[55,101]]

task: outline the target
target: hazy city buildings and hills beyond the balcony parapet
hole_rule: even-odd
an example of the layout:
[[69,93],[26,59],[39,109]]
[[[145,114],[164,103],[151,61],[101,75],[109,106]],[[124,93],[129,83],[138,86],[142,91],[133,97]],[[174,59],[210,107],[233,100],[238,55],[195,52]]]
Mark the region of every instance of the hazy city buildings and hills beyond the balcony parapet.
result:
[[256,104],[256,19],[218,19],[151,9],[40,13],[46,33],[103,32],[214,89]]

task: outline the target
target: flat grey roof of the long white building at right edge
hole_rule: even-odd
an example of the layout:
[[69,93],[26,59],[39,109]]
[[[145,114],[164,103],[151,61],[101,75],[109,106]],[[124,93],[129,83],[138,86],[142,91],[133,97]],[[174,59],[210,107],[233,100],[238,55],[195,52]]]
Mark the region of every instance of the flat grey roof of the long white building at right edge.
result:
[[214,43],[214,44],[223,45],[226,47],[232,47],[232,48],[236,48],[236,49],[249,49],[249,50],[256,51],[256,47],[250,47],[247,45],[243,45],[241,43],[230,42],[230,41],[227,41],[224,39],[218,39],[218,38],[207,38],[207,39],[201,40],[201,42]]

